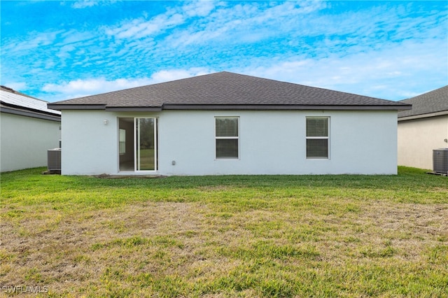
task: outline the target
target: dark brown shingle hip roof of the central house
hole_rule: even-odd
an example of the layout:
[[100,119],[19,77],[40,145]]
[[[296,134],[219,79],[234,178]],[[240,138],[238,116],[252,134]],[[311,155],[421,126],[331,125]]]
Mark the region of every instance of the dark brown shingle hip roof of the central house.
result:
[[219,72],[48,104],[57,110],[398,110],[409,105],[237,73]]

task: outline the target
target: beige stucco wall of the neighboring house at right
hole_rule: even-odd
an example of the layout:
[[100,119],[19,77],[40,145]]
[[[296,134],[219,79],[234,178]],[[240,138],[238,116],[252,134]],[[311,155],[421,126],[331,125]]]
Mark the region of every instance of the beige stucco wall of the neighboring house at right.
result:
[[398,164],[433,169],[433,150],[448,148],[448,115],[398,122]]

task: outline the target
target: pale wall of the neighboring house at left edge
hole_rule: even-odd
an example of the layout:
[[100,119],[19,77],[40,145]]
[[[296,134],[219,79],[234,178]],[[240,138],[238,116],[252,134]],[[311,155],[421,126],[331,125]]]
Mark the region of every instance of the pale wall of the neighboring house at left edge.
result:
[[60,122],[1,113],[0,170],[47,165],[47,150],[59,147]]

